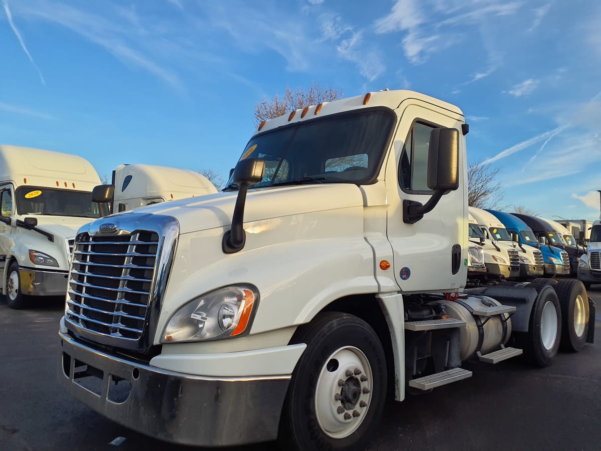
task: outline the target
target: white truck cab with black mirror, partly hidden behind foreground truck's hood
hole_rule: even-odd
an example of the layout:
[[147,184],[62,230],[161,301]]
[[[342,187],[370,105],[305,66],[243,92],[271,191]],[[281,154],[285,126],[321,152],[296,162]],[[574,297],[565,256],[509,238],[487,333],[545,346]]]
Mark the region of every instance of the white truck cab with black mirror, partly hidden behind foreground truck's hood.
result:
[[217,189],[195,171],[148,164],[122,164],[112,172],[111,185],[94,189],[102,216],[145,205],[215,194]]

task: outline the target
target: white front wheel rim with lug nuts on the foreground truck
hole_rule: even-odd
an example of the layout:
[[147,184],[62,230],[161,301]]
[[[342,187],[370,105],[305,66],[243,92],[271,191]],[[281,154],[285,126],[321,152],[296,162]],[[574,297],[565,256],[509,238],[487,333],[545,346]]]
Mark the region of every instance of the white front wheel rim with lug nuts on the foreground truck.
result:
[[344,438],[356,431],[370,407],[371,366],[365,354],[353,346],[334,351],[317,379],[315,413],[322,431]]

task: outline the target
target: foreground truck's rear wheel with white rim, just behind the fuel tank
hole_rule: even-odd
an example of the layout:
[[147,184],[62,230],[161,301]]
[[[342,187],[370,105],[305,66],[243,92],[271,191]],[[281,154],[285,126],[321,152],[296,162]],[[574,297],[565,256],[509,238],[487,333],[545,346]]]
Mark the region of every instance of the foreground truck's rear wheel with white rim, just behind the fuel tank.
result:
[[516,340],[532,364],[546,367],[560,347],[561,307],[551,286],[542,282],[537,285],[529,285],[537,290],[538,296],[530,313],[528,332],[516,334]]

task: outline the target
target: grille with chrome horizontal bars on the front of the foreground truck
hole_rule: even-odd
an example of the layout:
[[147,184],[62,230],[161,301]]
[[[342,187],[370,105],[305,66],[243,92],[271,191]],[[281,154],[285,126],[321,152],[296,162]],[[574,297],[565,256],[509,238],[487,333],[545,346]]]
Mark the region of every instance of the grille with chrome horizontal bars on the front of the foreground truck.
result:
[[111,337],[138,340],[144,331],[159,234],[77,236],[67,291],[67,321]]

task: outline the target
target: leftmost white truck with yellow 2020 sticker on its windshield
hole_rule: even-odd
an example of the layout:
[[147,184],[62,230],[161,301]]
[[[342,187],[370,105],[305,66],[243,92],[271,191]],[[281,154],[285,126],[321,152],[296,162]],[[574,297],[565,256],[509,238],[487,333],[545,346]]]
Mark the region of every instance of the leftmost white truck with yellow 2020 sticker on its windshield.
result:
[[99,217],[98,183],[80,156],[0,145],[0,283],[9,307],[26,307],[25,295],[65,295],[75,233]]

